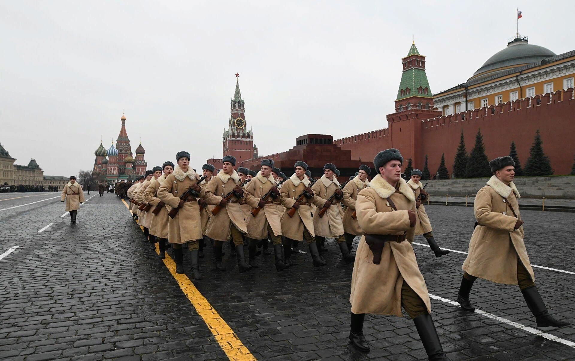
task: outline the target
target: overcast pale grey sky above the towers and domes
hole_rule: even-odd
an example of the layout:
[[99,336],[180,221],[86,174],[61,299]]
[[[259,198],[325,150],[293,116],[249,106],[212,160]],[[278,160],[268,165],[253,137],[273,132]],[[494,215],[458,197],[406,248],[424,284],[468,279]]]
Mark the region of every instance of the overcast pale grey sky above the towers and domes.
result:
[[516,30],[575,49],[574,2],[0,2],[0,143],[46,175],[91,169],[122,109],[148,168],[222,155],[240,73],[260,155],[297,136],[386,127],[412,35],[434,93],[464,82]]

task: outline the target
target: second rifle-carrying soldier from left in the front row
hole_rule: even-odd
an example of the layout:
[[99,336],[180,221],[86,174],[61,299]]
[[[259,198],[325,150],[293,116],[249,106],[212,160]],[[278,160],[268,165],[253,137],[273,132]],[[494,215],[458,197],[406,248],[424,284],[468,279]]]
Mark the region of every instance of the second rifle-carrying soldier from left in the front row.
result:
[[[214,240],[216,269],[225,270],[221,263],[221,249],[225,241],[232,237],[235,244],[237,266],[240,272],[246,272],[252,267],[244,258],[243,234],[247,233],[246,220],[241,212],[239,201],[244,198],[244,190],[240,187],[240,176],[233,170],[236,158],[230,155],[222,158],[224,166],[217,176],[214,176],[205,188],[205,201],[209,205],[220,206],[220,211],[212,218],[206,231],[208,237]],[[225,197],[233,191],[229,201]]]

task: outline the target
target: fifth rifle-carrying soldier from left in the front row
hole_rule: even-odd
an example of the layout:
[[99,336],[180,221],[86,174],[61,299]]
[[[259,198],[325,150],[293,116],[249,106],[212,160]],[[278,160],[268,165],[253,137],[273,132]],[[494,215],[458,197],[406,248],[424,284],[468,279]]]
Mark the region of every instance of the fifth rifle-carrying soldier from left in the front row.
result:
[[[339,189],[340,185],[335,177],[335,171],[336,167],[332,163],[325,164],[324,175],[312,186],[313,193],[317,194],[317,197],[324,199],[326,203],[322,207],[318,206],[316,208],[313,214],[313,229],[316,232],[317,243],[323,245],[325,237],[335,239],[342,252],[343,260],[346,263],[350,263],[354,260],[354,255],[351,254],[350,249],[347,247],[346,238],[343,236],[342,208],[338,204],[343,199],[343,191]],[[329,201],[334,194],[333,201]],[[325,207],[327,207],[327,211],[321,217],[321,209]]]

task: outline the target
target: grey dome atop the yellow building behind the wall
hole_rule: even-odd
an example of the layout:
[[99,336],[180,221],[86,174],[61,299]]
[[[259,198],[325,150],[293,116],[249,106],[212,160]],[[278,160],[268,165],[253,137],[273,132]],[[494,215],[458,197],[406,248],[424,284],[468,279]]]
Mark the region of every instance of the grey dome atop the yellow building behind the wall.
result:
[[507,41],[507,47],[492,57],[473,73],[469,80],[479,80],[513,70],[527,64],[540,64],[542,60],[556,54],[539,45],[529,44],[527,36],[516,36]]

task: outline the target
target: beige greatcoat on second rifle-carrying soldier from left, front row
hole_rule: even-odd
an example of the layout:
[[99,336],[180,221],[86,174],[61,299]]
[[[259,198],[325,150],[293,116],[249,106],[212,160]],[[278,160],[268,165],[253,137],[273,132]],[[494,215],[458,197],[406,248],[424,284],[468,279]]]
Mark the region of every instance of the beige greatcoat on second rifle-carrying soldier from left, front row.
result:
[[[231,175],[225,174],[224,170],[220,170],[216,176],[208,182],[205,191],[204,199],[209,205],[218,205],[235,186],[240,185],[240,176],[236,171]],[[237,201],[235,196],[230,199]],[[206,236],[216,241],[227,241],[230,236],[232,225],[242,233],[247,233],[246,220],[244,219],[243,212],[241,212],[240,203],[227,203],[225,207],[220,209],[220,212],[212,218],[208,223],[206,229]]]

